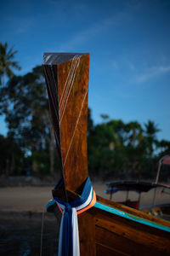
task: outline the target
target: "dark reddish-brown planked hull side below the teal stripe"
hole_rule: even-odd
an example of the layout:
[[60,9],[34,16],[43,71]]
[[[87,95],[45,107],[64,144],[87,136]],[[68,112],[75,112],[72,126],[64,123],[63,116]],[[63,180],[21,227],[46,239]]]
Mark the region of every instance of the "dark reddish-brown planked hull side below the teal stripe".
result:
[[94,216],[97,255],[102,255],[107,250],[108,255],[111,255],[111,252],[112,255],[170,254],[170,233],[167,231],[96,208],[91,208],[88,212]]

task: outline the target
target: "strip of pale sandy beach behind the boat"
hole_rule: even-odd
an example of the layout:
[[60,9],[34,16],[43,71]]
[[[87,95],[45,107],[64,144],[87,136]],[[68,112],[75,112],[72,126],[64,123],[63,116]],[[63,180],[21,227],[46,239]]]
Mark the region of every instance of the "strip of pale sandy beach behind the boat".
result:
[[[42,212],[47,202],[52,198],[51,190],[54,186],[24,186],[5,187],[0,189],[0,212]],[[105,194],[105,183],[94,183],[94,190],[97,195],[110,198]],[[148,193],[142,193],[140,207],[150,206],[153,199],[154,189]],[[138,200],[138,193],[129,192],[131,201]],[[126,192],[116,192],[113,201],[124,201]],[[161,193],[161,189],[156,192],[156,204],[170,203],[170,195]]]

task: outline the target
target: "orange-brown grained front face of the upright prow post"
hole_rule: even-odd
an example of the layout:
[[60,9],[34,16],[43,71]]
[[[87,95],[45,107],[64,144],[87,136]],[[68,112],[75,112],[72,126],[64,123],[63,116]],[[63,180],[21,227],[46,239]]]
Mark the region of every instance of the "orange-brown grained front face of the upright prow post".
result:
[[[69,61],[71,62],[71,61]],[[58,82],[64,84],[70,67],[58,67]],[[87,122],[88,122],[89,55],[80,58],[71,93],[64,107],[59,109],[60,141],[66,189],[77,191],[88,177]],[[65,73],[65,76],[63,75]],[[59,100],[63,90],[59,86]],[[62,98],[63,99],[63,98]],[[64,112],[65,111],[65,112]],[[63,113],[64,112],[64,113]]]

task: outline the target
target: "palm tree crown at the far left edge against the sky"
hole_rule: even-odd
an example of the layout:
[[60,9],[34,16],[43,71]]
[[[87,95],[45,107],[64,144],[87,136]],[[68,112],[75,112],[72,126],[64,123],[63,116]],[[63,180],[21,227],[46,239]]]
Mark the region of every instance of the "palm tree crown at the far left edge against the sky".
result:
[[17,61],[13,61],[14,55],[17,53],[14,47],[8,49],[8,43],[0,42],[0,84],[5,86],[5,75],[11,79],[14,76],[14,72],[11,68],[20,70],[20,66]]

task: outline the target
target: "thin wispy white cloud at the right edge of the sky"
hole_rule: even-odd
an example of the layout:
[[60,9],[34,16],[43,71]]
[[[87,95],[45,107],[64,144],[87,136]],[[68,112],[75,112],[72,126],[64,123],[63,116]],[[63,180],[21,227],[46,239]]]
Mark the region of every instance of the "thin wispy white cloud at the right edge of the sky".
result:
[[139,74],[136,81],[143,83],[149,79],[155,79],[165,73],[170,73],[170,66],[150,67],[145,73]]

